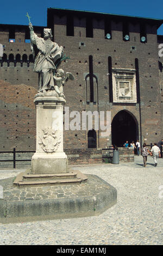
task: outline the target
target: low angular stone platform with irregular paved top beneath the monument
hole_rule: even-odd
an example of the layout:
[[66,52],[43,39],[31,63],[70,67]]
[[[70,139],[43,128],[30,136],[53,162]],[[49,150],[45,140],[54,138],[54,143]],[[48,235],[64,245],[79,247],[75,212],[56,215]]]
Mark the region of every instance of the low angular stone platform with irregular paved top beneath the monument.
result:
[[[78,173],[77,175],[76,173],[74,171],[73,175],[77,178]],[[36,180],[41,182],[42,179],[42,175],[30,177],[28,172],[21,175],[24,182],[28,179],[32,182],[33,179],[36,183]],[[75,179],[74,177],[69,176],[66,179]],[[87,174],[86,177],[87,181],[80,185],[69,182],[62,186],[49,183],[48,174],[45,186],[41,184],[13,186],[13,178],[0,180],[0,186],[3,187],[3,199],[0,199],[0,222],[31,222],[96,216],[116,204],[117,191],[114,187],[96,175]],[[51,176],[51,181],[53,178]],[[55,174],[54,180],[57,179],[59,180],[60,177]]]

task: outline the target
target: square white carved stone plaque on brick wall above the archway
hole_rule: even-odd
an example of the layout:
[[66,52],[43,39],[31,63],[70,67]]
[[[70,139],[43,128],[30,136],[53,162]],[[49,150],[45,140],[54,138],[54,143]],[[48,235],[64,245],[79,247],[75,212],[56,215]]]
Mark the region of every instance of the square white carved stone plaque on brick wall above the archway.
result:
[[112,69],[113,102],[136,103],[135,69]]

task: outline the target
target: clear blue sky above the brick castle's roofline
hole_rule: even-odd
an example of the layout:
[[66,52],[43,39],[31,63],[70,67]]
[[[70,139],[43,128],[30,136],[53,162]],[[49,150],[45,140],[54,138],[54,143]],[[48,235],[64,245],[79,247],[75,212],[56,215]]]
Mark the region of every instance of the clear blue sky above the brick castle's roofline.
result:
[[[28,12],[33,25],[47,26],[47,8],[50,7],[163,19],[162,0],[8,0],[1,1],[0,23],[28,25]],[[163,35],[163,25],[158,34]]]

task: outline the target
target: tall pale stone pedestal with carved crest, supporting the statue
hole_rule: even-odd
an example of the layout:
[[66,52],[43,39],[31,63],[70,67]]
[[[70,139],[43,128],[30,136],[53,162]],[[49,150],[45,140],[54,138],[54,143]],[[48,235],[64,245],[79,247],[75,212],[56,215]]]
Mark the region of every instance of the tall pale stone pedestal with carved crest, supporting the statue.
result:
[[32,173],[67,173],[67,156],[63,150],[62,97],[41,94],[36,105],[36,153],[32,157]]

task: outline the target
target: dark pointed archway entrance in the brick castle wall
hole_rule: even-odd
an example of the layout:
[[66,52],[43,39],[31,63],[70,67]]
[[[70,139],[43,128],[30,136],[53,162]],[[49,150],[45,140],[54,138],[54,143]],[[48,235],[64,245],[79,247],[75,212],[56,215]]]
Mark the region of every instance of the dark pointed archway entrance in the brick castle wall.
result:
[[122,110],[118,112],[111,123],[112,145],[123,147],[128,141],[129,146],[132,141],[139,139],[137,120],[129,112]]

